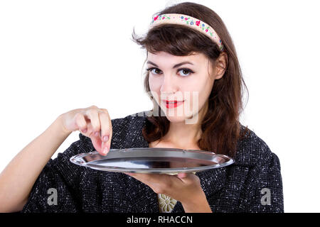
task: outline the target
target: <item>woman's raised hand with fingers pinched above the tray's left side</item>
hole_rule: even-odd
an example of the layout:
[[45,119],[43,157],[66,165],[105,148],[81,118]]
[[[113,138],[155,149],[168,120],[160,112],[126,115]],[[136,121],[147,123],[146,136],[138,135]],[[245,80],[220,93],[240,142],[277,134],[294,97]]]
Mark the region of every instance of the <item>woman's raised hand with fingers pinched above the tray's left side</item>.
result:
[[60,116],[66,132],[81,131],[92,140],[92,145],[101,155],[107,155],[112,138],[112,123],[107,109],[90,106],[74,109]]

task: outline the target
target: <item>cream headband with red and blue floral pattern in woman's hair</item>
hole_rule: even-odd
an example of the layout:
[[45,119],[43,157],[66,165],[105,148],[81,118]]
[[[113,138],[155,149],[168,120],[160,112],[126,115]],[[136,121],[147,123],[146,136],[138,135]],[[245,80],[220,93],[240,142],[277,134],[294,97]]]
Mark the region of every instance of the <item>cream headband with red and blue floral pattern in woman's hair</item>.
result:
[[213,28],[211,28],[207,23],[204,23],[203,21],[197,18],[178,13],[158,15],[153,18],[152,22],[150,23],[149,29],[153,28],[154,26],[160,23],[175,23],[188,26],[189,28],[194,28],[203,34],[208,35],[208,37],[211,38],[213,42],[218,44],[219,49],[223,51],[223,43],[220,40],[218,34],[215,33]]

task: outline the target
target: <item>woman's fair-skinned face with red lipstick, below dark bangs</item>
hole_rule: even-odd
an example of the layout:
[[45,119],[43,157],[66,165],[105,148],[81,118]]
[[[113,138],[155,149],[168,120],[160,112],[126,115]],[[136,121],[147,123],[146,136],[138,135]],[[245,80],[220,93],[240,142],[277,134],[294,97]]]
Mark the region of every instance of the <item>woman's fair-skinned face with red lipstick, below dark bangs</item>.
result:
[[[182,62],[185,63],[180,65]],[[151,94],[166,118],[171,122],[198,123],[198,115],[207,111],[215,80],[208,57],[202,53],[175,56],[148,52],[146,64]],[[178,105],[167,104],[166,100],[176,100]]]

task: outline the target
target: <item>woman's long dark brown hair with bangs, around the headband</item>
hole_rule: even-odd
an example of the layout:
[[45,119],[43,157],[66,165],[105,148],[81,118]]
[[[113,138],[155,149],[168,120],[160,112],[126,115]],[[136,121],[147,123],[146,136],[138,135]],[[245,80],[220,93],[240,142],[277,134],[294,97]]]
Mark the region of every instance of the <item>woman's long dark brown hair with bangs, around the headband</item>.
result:
[[[224,45],[223,52],[228,55],[228,64],[223,77],[215,80],[213,89],[208,97],[208,111],[201,122],[203,133],[201,139],[198,140],[198,147],[201,150],[234,157],[238,139],[245,135],[248,128],[246,127],[245,131],[242,132],[243,126],[239,122],[239,116],[243,111],[242,89],[243,86],[245,89],[247,87],[242,78],[233,40],[220,16],[206,6],[183,2],[169,6],[156,13],[156,15],[166,13],[181,13],[198,18],[208,23],[222,40]],[[220,55],[218,45],[213,43],[208,36],[192,28],[176,24],[155,26],[142,38],[137,38],[133,31],[132,38],[135,43],[142,45],[143,49],[151,53],[163,51],[171,55],[187,56],[193,52],[201,52],[208,57],[212,66]],[[145,72],[144,89],[149,95],[149,72]],[[151,95],[149,97],[151,100],[153,99]],[[155,102],[153,103],[158,105]],[[169,131],[170,121],[166,116],[161,115],[159,106],[157,106],[157,109],[159,114],[148,116],[146,125],[142,130],[144,138],[149,143],[159,140]]]

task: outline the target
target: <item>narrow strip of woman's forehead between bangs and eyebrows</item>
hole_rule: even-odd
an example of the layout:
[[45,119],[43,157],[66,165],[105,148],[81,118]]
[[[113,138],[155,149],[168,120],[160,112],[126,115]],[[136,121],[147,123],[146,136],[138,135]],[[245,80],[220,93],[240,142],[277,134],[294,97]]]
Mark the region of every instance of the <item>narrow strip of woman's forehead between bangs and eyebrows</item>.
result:
[[156,52],[155,54],[148,52],[147,60],[150,60],[151,62],[182,62],[182,61],[191,61],[191,62],[206,62],[208,58],[206,55],[200,52],[193,52],[189,56],[176,56],[171,55],[168,52]]

